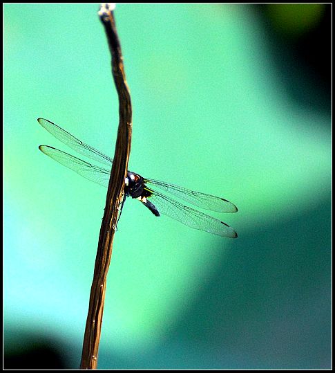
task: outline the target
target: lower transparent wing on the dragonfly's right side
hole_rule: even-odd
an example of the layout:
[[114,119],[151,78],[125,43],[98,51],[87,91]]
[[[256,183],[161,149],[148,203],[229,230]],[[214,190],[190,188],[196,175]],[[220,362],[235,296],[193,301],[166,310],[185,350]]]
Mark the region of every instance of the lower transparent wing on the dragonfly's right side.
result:
[[236,238],[237,233],[233,228],[223,223],[222,221],[215,219],[209,215],[206,215],[200,211],[194,210],[188,206],[183,206],[181,203],[171,199],[156,190],[146,188],[149,192],[152,192],[150,197],[147,197],[151,203],[155,205],[158,212],[171,217],[172,219],[180,221],[194,229],[204,230],[205,232],[212,233],[213,235],[219,235],[222,237]]

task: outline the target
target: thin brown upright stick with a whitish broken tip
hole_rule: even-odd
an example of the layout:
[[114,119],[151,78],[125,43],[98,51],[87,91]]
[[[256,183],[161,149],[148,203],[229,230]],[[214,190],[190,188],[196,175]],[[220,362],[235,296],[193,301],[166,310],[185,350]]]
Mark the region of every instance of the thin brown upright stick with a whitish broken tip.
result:
[[99,235],[93,283],[90,289],[90,304],[86,320],[81,369],[96,369],[102,313],[106,291],[106,276],[111,262],[112,246],[117,224],[119,205],[122,201],[124,179],[128,169],[131,150],[132,111],[131,96],[124,75],[123,57],[115,28],[113,8],[102,4],[99,16],[104,25],[112,55],[112,73],[119,95],[119,129],[115,145],[115,156],[109,179],[106,207]]

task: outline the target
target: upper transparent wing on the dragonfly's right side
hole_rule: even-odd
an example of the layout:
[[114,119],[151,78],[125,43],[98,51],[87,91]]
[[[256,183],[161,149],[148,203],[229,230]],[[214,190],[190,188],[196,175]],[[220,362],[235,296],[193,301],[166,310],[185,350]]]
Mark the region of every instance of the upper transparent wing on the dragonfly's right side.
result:
[[164,181],[158,181],[153,179],[144,179],[144,183],[152,184],[173,194],[186,202],[192,203],[194,206],[204,208],[204,210],[212,210],[218,212],[237,212],[238,208],[227,199],[212,196],[211,194],[204,194],[195,192],[186,188],[182,188],[178,185],[165,183]]

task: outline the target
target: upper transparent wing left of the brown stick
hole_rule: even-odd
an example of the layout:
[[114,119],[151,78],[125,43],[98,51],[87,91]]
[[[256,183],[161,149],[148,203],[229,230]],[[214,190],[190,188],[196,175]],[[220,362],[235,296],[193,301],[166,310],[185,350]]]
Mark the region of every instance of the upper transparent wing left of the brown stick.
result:
[[65,145],[68,145],[71,149],[75,150],[79,154],[83,154],[94,161],[98,161],[99,163],[103,163],[104,165],[110,166],[113,162],[113,159],[109,156],[106,156],[99,150],[91,147],[90,145],[83,143],[75,136],[69,134],[65,129],[55,125],[55,123],[50,122],[50,120],[38,118],[37,119],[39,124],[44,127],[52,136],[55,136],[57,140],[61,141]]

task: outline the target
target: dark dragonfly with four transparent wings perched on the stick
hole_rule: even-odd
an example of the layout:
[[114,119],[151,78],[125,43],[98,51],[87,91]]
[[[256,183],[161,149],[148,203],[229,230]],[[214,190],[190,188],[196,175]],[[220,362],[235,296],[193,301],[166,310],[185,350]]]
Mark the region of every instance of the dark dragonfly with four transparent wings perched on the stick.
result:
[[[41,152],[61,163],[61,165],[77,172],[80,176],[108,188],[113,163],[112,158],[79,140],[65,129],[50,122],[50,120],[44,118],[38,118],[37,120],[44,129],[57,138],[57,140],[61,141],[61,143],[75,150],[78,154],[86,156],[102,165],[106,165],[106,167],[93,165],[81,158],[77,158],[48,145],[40,145],[39,150]],[[195,208],[184,206],[183,203],[170,197],[170,194],[204,210],[230,213],[238,211],[238,208],[233,203],[227,201],[227,199],[212,196],[211,194],[195,192],[164,181],[146,179],[135,172],[127,172],[124,183],[125,198],[132,197],[133,199],[138,199],[156,217],[159,217],[162,213],[180,221],[186,226],[204,230],[213,235],[229,238],[238,237],[236,231],[228,224],[204,214],[204,212],[195,210]]]

